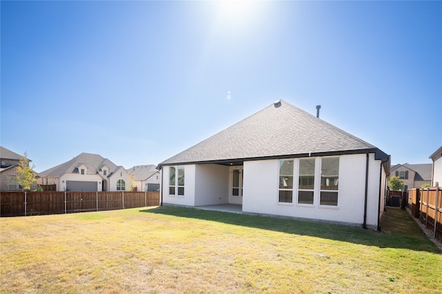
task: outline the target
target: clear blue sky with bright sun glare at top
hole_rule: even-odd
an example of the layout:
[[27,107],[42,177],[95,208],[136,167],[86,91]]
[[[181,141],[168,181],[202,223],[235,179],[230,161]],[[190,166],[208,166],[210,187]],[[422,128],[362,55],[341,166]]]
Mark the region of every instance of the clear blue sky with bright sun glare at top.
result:
[[441,1],[1,1],[1,145],[157,164],[284,99],[396,163],[442,146]]

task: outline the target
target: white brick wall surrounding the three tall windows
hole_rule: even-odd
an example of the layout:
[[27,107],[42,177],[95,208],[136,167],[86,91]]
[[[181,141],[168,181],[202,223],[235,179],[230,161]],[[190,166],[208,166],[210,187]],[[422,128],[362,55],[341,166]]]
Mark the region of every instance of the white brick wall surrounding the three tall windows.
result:
[[[320,158],[316,158],[316,171]],[[319,177],[315,177],[314,204],[297,204],[298,171],[294,174],[293,203],[278,203],[279,160],[257,160],[244,162],[244,196],[242,211],[295,218],[313,218],[334,222],[363,224],[365,198],[365,154],[340,156],[338,206],[319,205]],[[367,224],[377,227],[379,196],[379,165],[374,154],[369,155],[369,188],[367,202]],[[294,158],[294,166],[298,159]],[[318,172],[316,172],[318,175]]]

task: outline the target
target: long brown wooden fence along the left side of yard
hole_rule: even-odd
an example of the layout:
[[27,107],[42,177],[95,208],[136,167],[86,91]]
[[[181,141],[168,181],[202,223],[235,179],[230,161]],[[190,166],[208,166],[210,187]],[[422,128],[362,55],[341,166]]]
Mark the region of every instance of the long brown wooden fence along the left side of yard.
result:
[[1,192],[0,216],[36,216],[160,205],[159,191]]

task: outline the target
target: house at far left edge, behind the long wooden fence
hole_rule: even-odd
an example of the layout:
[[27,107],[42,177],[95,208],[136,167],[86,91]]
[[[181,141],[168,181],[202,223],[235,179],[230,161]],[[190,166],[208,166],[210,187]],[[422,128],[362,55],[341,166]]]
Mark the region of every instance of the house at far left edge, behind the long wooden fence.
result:
[[[21,157],[21,155],[0,146],[0,191],[19,191],[23,189],[17,182],[17,167]],[[30,188],[37,189],[37,182],[32,184]]]

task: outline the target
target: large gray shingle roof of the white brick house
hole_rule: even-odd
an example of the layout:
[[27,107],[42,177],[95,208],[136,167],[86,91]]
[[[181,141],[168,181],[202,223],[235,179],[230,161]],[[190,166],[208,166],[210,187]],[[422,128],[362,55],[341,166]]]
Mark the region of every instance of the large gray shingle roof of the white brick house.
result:
[[273,103],[160,165],[374,150],[285,101]]

